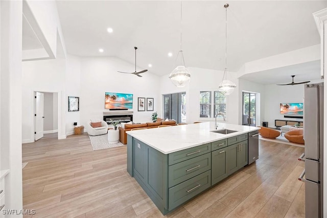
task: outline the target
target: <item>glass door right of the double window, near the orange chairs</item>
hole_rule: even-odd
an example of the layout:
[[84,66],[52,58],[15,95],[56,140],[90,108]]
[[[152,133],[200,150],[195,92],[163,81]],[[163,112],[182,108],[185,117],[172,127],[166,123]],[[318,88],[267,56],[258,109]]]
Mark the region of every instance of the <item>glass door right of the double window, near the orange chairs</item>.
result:
[[255,93],[243,92],[242,125],[255,127]]

